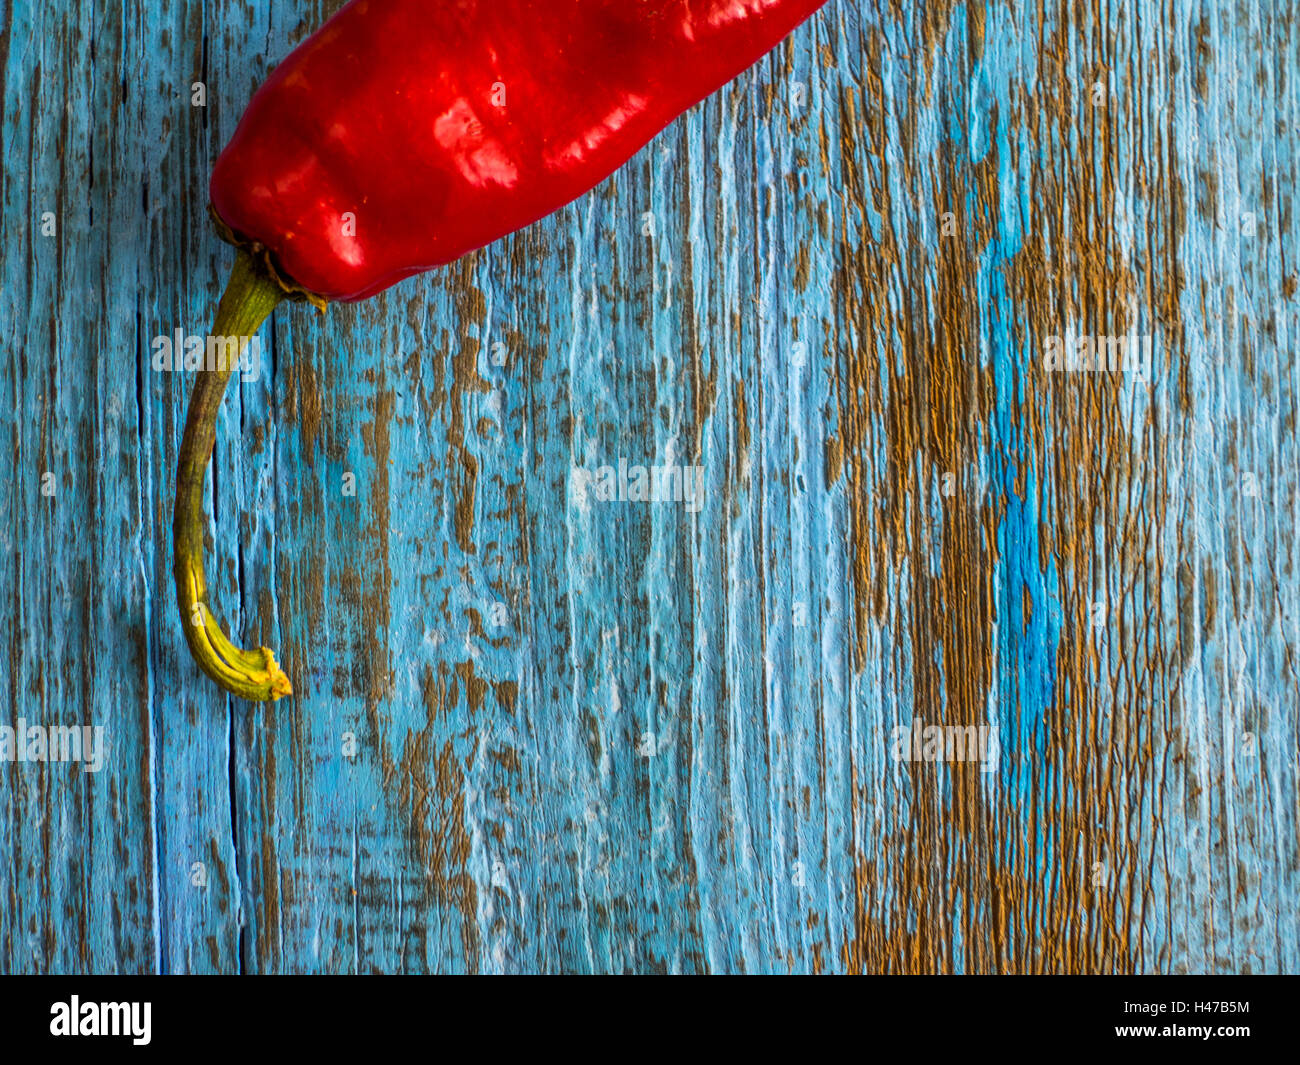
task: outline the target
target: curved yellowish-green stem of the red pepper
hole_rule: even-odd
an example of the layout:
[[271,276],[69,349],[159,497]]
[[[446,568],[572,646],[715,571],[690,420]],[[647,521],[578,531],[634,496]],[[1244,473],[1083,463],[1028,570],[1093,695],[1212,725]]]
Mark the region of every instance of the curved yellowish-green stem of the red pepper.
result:
[[[257,332],[283,298],[285,290],[247,251],[240,250],[217,307],[212,335],[240,338],[237,343],[242,355],[247,338]],[[212,614],[208,583],[203,573],[203,484],[217,438],[221,397],[235,369],[229,359],[229,345],[220,345],[217,350],[226,358],[218,360],[217,367],[200,369],[195,375],[190,410],[185,417],[185,436],[181,440],[176,473],[176,512],[172,518],[172,572],[176,576],[181,625],[199,668],[228,692],[265,702],[292,692],[289,677],[268,648],[243,650],[230,642]]]

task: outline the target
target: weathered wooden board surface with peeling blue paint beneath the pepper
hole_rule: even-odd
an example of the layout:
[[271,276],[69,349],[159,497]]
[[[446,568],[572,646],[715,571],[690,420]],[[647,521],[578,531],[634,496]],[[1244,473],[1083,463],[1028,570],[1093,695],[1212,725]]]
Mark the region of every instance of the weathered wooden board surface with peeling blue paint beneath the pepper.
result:
[[[1300,969],[1294,3],[831,0],[556,216],[277,311],[209,479],[248,707],[150,342],[337,7],[0,3],[4,720],[110,744],[0,765],[0,970]],[[620,456],[703,506],[576,497]]]

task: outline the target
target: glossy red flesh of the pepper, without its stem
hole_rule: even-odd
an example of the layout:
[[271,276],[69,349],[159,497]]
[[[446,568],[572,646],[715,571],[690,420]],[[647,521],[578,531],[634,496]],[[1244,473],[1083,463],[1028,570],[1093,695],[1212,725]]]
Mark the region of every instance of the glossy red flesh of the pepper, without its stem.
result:
[[354,0],[254,96],[211,196],[330,300],[598,185],[824,0]]

